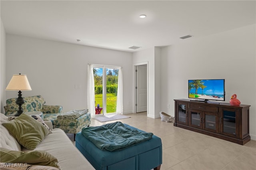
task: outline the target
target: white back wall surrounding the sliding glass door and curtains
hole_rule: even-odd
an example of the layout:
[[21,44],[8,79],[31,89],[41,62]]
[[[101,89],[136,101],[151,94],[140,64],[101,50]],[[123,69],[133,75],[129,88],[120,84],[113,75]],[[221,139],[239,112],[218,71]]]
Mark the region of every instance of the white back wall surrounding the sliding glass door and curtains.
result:
[[[22,97],[42,95],[46,105],[62,105],[64,112],[87,108],[88,63],[123,67],[124,113],[131,113],[132,53],[6,35],[6,81],[26,74],[32,91],[22,91]],[[17,95],[6,91],[7,99]]]

